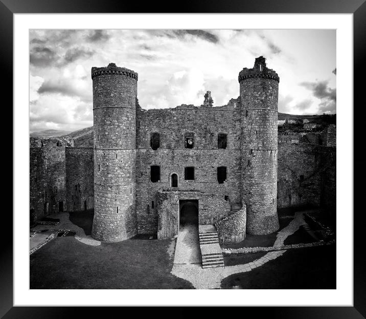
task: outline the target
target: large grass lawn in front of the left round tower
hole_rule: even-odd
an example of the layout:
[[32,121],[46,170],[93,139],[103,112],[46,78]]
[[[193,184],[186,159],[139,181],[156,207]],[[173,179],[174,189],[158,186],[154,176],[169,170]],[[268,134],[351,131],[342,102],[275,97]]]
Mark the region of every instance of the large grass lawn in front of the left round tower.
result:
[[193,289],[170,274],[174,247],[170,239],[90,246],[57,237],[30,256],[30,288]]

